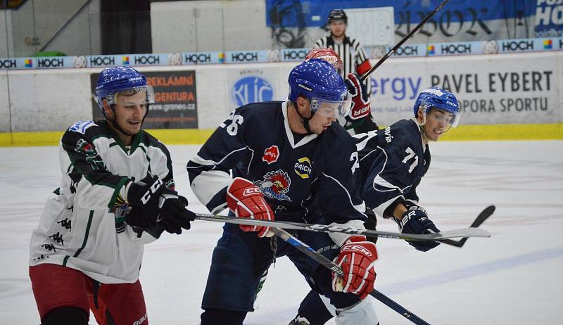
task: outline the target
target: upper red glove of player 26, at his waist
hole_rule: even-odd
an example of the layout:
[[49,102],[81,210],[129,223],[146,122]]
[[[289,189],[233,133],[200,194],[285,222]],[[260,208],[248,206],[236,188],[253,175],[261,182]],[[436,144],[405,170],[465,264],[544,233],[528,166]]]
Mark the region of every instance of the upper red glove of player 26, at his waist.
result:
[[[227,188],[227,205],[236,217],[274,220],[274,212],[264,200],[262,191],[251,181],[236,177]],[[243,231],[258,231],[258,237],[271,237],[270,227],[239,224]]]

